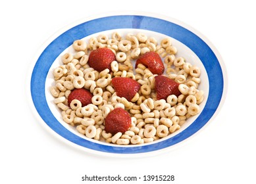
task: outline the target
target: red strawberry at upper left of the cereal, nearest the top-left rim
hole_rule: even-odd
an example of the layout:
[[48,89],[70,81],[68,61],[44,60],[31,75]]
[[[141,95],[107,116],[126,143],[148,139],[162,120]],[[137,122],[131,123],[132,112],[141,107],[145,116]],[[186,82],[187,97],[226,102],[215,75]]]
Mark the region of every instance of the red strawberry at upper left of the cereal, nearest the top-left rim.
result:
[[88,64],[94,70],[101,72],[106,68],[109,68],[109,70],[111,70],[111,62],[113,62],[113,60],[116,60],[113,51],[111,51],[111,49],[103,47],[91,51],[88,59]]

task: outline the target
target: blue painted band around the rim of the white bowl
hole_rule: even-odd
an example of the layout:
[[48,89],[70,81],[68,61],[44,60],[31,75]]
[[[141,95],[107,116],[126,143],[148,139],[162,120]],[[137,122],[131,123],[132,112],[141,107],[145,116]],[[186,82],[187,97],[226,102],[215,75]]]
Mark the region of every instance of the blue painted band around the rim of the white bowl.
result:
[[[121,22],[121,23],[120,23]],[[122,28],[142,29],[168,35],[184,43],[189,47],[205,66],[209,78],[209,98],[197,119],[184,131],[174,137],[165,139],[155,144],[141,145],[137,147],[115,147],[88,141],[75,135],[64,127],[52,114],[45,97],[45,80],[49,68],[57,57],[76,39],[82,39],[88,35],[107,30]],[[143,15],[115,15],[95,18],[82,24],[78,24],[66,30],[63,34],[54,39],[41,53],[34,65],[30,79],[30,93],[34,106],[41,119],[57,134],[64,139],[84,147],[86,149],[99,152],[117,154],[136,154],[153,152],[155,150],[172,147],[177,143],[188,139],[209,122],[217,111],[224,92],[224,77],[220,62],[207,43],[192,31],[168,20]]]

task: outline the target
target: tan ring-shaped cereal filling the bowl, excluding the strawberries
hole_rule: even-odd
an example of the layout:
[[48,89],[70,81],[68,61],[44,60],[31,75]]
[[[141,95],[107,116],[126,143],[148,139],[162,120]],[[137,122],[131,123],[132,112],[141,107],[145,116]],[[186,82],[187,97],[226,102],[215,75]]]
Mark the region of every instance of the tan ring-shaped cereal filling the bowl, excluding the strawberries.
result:
[[[54,97],[53,103],[62,110],[63,121],[76,127],[78,133],[88,139],[117,145],[150,143],[174,133],[186,124],[188,118],[199,114],[199,104],[204,99],[204,92],[198,89],[201,71],[185,58],[177,57],[178,50],[169,37],[158,41],[141,32],[124,36],[113,32],[90,37],[88,41],[75,40],[72,47],[74,53],[64,53],[61,56],[63,64],[53,70],[55,84],[49,91]],[[100,47],[111,49],[116,60],[111,62],[111,69],[98,72],[90,68],[88,59],[90,52]],[[157,75],[143,64],[134,68],[134,60],[149,51],[162,57],[165,76],[179,83],[181,95],[157,99]],[[140,83],[140,90],[131,101],[118,97],[111,83],[115,77],[131,78]],[[91,103],[82,106],[74,99],[68,106],[68,95],[79,88],[88,89],[93,94]],[[105,118],[115,108],[127,110],[132,124],[124,133],[112,135],[105,131]]]

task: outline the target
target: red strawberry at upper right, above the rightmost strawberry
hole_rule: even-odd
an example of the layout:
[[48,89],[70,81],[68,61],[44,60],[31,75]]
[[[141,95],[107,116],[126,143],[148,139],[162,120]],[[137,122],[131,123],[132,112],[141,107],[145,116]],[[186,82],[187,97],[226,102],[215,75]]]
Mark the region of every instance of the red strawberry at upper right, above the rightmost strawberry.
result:
[[161,57],[153,51],[141,55],[141,57],[136,60],[135,68],[137,68],[140,63],[149,68],[152,74],[161,75],[165,70]]

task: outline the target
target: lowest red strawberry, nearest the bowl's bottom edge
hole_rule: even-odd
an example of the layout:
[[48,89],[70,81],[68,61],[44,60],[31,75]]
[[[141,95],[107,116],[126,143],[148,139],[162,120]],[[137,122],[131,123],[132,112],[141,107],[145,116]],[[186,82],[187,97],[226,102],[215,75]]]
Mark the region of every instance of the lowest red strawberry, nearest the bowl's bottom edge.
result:
[[122,132],[130,128],[132,119],[129,112],[122,108],[115,108],[105,118],[105,131],[112,133],[113,135]]

